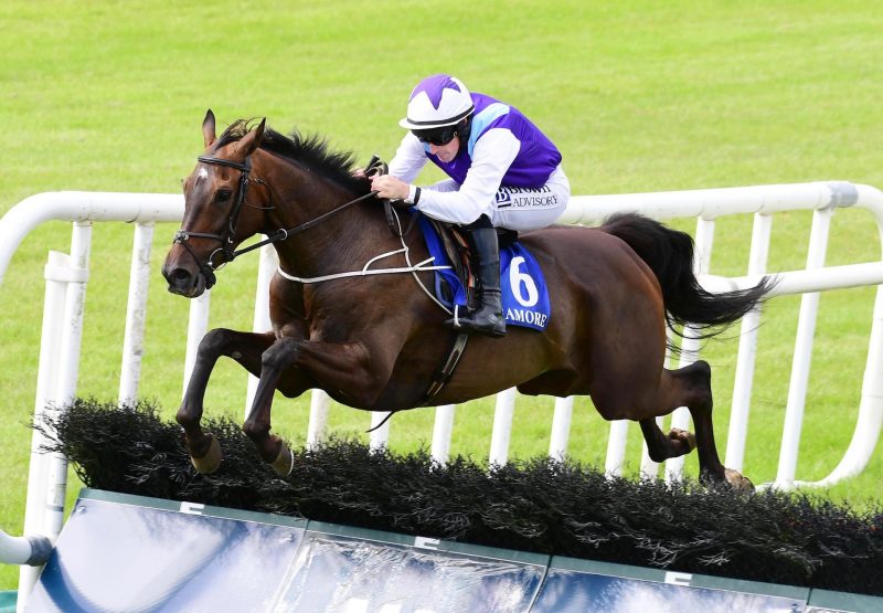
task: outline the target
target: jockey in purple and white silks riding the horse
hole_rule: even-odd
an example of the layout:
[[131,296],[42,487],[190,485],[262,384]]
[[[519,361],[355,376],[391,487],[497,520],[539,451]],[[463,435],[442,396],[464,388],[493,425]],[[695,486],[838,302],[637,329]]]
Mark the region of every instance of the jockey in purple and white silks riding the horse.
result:
[[[407,117],[398,125],[411,131],[390,162],[390,173],[372,178],[372,189],[379,198],[403,200],[466,231],[479,306],[448,324],[504,336],[496,229],[536,230],[564,212],[571,187],[561,154],[517,108],[470,94],[461,81],[446,74],[417,84]],[[426,160],[449,179],[425,188],[412,184]]]

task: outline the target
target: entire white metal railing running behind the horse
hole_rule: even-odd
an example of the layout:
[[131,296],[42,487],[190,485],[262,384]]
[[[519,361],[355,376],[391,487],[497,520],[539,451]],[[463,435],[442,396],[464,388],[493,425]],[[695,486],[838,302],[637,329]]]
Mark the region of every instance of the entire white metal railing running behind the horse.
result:
[[[791,383],[785,415],[785,432],[780,447],[778,473],[774,485],[790,488],[797,485],[828,486],[860,473],[870,461],[883,427],[883,288],[877,288],[873,324],[865,373],[862,383],[861,404],[855,431],[843,458],[830,475],[819,482],[796,479],[797,448],[802,430],[807,381],[811,361],[812,337],[818,309],[818,293],[829,289],[880,285],[883,283],[883,261],[844,266],[825,266],[830,219],[838,208],[859,207],[869,210],[877,224],[883,245],[883,193],[876,188],[849,182],[829,181],[813,183],[757,186],[658,193],[574,197],[561,223],[599,224],[608,215],[635,211],[653,219],[696,218],[695,249],[696,273],[710,290],[748,287],[757,283],[766,272],[772,215],[788,210],[813,211],[810,247],[806,269],[777,273],[780,281],[772,296],[802,294],[798,320],[798,334],[792,363]],[[753,213],[754,230],[747,275],[726,278],[710,274],[710,261],[714,237],[714,220],[721,215]],[[76,393],[77,368],[82,332],[82,314],[88,278],[88,254],[91,229],[94,222],[125,221],[135,224],[132,262],[130,268],[129,297],[126,316],[126,334],[119,385],[119,402],[131,402],[137,398],[141,357],[143,353],[143,324],[148,289],[150,247],[153,224],[179,222],[183,214],[183,198],[179,194],[113,193],[113,192],[47,192],[30,197],[0,219],[0,283],[12,254],[24,236],[44,221],[71,221],[74,224],[71,255],[50,253],[46,265],[46,298],[43,336],[40,353],[40,372],[34,403],[35,420],[45,411],[70,402]],[[258,287],[254,329],[269,329],[267,313],[267,285],[277,265],[272,247],[260,251]],[[883,257],[883,256],[882,256]],[[188,326],[188,346],[184,364],[184,387],[190,377],[196,347],[208,329],[211,293],[191,302]],[[734,382],[730,435],[725,464],[741,469],[744,461],[745,438],[751,406],[751,390],[757,348],[757,315],[743,321]],[[682,347],[681,366],[694,361],[698,346],[689,338]],[[246,408],[254,395],[255,380],[248,384]],[[497,395],[493,434],[489,463],[504,464],[509,456],[514,402],[514,389]],[[317,445],[328,423],[328,395],[313,390],[307,445]],[[450,451],[456,408],[436,408],[433,429],[432,457],[445,463]],[[556,399],[553,415],[549,455],[561,459],[566,456],[573,398]],[[372,426],[380,423],[385,413],[372,414]],[[672,416],[672,426],[688,427],[689,412],[679,409]],[[613,422],[605,468],[609,474],[621,474],[625,463],[625,445],[628,422]],[[372,448],[386,444],[390,435],[387,422],[371,434]],[[24,532],[43,535],[53,540],[61,529],[63,517],[66,461],[63,457],[46,457],[36,453],[42,444],[39,433],[32,443],[31,467],[28,492],[28,510]],[[666,463],[666,478],[681,477],[683,458]],[[641,472],[655,476],[658,466],[647,457],[646,447],[641,458]],[[47,483],[49,482],[49,483]],[[20,537],[19,539],[25,539]],[[0,530],[0,557],[13,556],[17,563],[24,541],[9,537]],[[0,560],[4,561],[4,560]],[[9,561],[12,561],[11,559]],[[36,578],[34,570],[23,570],[21,594],[30,593]]]

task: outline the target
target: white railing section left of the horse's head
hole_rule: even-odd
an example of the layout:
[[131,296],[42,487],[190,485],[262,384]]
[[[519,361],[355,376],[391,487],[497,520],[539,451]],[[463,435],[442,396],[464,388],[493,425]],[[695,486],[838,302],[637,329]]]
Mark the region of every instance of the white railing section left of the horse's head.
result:
[[[0,219],[0,283],[21,241],[44,221],[73,222],[71,254],[50,252],[45,267],[46,292],[40,345],[34,424],[46,413],[70,403],[76,395],[83,310],[88,281],[92,224],[95,221],[127,221],[136,224],[129,298],[126,311],[119,402],[136,398],[143,353],[143,324],[152,226],[157,221],[180,221],[181,197],[97,192],[52,192],[30,197]],[[34,431],[24,516],[24,537],[0,530],[0,562],[21,563],[15,610],[24,611],[28,596],[62,529],[67,488],[67,461],[61,454],[43,455],[45,436]],[[41,540],[42,539],[42,540]],[[49,541],[50,547],[45,547]],[[9,546],[17,546],[11,549]],[[30,551],[22,559],[22,551]],[[10,553],[17,552],[13,557]]]

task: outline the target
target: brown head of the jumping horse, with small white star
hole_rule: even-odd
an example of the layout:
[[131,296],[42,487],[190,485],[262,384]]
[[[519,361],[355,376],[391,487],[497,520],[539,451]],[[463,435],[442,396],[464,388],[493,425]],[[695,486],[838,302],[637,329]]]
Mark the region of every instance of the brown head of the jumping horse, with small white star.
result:
[[259,232],[263,215],[246,197],[262,197],[263,190],[248,193],[252,154],[260,145],[266,120],[238,139],[221,141],[215,136],[214,114],[202,123],[205,152],[184,180],[184,219],[166,256],[162,276],[169,292],[195,298],[215,283],[214,272],[233,258],[236,246]]

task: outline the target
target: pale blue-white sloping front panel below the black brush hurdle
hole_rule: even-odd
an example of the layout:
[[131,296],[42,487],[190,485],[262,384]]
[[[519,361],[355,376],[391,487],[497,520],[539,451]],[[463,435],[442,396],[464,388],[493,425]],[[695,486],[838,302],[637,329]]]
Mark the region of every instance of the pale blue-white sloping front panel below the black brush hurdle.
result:
[[32,610],[879,611],[883,598],[84,489]]

